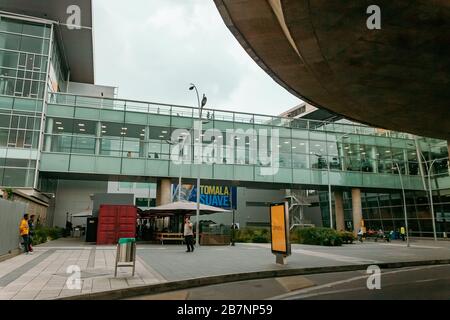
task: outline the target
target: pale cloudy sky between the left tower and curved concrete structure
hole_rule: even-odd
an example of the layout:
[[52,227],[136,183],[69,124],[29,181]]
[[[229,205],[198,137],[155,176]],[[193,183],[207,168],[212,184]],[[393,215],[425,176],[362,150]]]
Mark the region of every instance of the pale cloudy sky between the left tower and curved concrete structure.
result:
[[[132,3],[132,5],[130,5]],[[212,0],[94,0],[96,83],[119,97],[279,114],[300,103],[247,55]]]

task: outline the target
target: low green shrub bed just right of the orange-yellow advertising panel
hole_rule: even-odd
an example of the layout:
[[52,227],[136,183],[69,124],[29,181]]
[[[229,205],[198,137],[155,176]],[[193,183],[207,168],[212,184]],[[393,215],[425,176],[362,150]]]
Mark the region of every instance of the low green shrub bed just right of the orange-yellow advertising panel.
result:
[[[296,234],[295,234],[296,233]],[[341,246],[342,238],[336,230],[329,228],[301,228],[294,231],[291,237],[300,244],[312,244],[320,246]]]

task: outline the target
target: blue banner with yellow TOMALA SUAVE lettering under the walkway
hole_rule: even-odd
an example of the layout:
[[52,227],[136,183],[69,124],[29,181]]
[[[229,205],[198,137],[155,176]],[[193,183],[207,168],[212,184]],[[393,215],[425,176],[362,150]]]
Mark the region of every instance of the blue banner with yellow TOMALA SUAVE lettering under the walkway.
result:
[[[173,201],[178,200],[178,185],[172,187]],[[197,201],[197,186],[181,185],[181,200]],[[237,208],[237,188],[232,186],[200,186],[200,203],[208,206],[232,210]]]

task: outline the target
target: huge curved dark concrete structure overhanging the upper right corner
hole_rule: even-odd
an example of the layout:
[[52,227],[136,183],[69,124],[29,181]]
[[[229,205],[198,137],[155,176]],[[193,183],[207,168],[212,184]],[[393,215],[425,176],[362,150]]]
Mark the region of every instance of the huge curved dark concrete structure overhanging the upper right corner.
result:
[[250,56],[301,99],[376,127],[450,139],[450,3],[214,0]]

